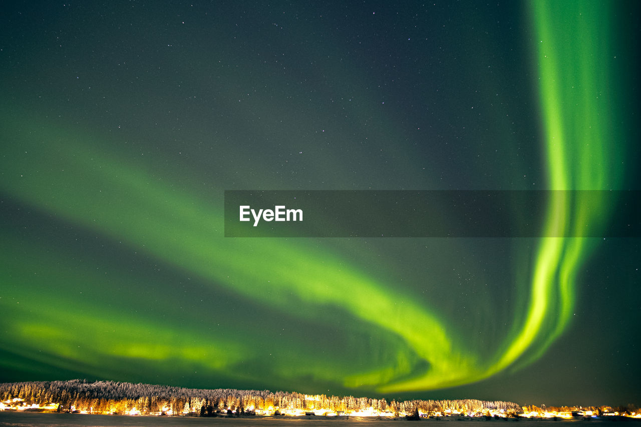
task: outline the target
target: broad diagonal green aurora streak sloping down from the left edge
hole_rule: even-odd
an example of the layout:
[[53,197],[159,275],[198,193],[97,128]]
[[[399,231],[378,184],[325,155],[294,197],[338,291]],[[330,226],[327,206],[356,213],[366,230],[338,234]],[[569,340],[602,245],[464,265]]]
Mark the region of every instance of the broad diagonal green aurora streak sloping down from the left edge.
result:
[[[383,340],[386,334],[400,337],[415,353],[399,354],[382,374],[356,372],[334,381],[376,387],[406,378],[415,363],[407,361],[416,356],[429,364],[423,387],[460,384],[478,370],[474,356],[454,344],[456,334],[425,307],[327,251],[297,240],[224,239],[221,210],[172,191],[133,165],[73,137],[31,131],[13,138],[17,144],[4,157],[1,185],[18,199],[285,312],[315,317],[328,306],[341,308],[376,326]],[[268,290],[256,285],[267,281]]]

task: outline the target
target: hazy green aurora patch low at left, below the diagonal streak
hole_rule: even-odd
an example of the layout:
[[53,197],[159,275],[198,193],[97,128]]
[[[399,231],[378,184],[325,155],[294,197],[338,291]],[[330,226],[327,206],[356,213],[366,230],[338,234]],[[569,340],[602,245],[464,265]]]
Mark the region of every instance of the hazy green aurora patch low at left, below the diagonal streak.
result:
[[[13,258],[10,248],[21,247],[12,239],[2,243],[0,253],[5,260]],[[0,306],[4,333],[0,346],[26,359],[117,378],[118,371],[124,368],[114,363],[117,360],[140,360],[156,367],[170,360],[175,367],[178,360],[181,366],[193,364],[200,369],[222,371],[252,353],[251,346],[220,339],[213,333],[183,329],[174,322],[134,314],[131,308],[123,310],[126,303],[114,310],[106,304],[113,299],[96,295],[93,289],[108,293],[113,292],[110,289],[114,283],[126,287],[128,282],[120,277],[106,281],[95,271],[69,265],[64,258],[40,248],[26,248],[22,255],[3,269]],[[78,280],[69,274],[71,269],[85,281],[79,287],[85,290],[84,295],[67,287],[69,281]],[[94,298],[90,299],[90,295]],[[131,304],[143,305],[143,301]],[[129,373],[133,373],[131,369]]]

